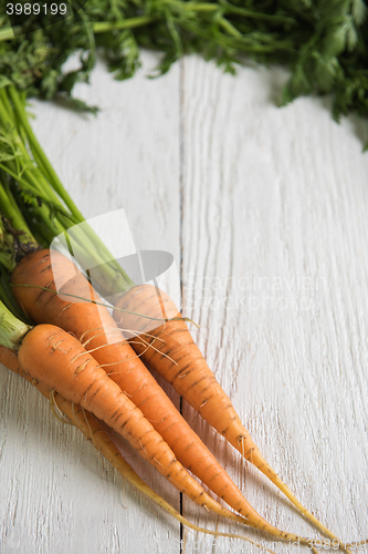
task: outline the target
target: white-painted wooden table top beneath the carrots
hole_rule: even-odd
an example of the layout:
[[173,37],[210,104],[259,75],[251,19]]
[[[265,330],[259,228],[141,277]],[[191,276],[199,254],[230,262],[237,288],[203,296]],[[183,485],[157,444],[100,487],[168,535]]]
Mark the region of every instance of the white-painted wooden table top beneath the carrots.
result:
[[[76,88],[102,107],[97,117],[35,102],[36,135],[86,217],[124,207],[138,248],[175,255],[183,311],[200,324],[199,346],[255,443],[344,541],[366,537],[367,123],[337,125],[325,99],[277,109],[280,69],[232,78],[186,58],[148,80],[157,60],[144,61],[124,83],[99,63],[92,84]],[[187,532],[180,551],[176,521],[59,422],[36,390],[3,368],[0,380],[1,554],[260,552]],[[317,534],[186,404],[183,413],[262,515]],[[180,510],[179,494],[125,452]],[[215,529],[186,500],[182,513]],[[276,552],[302,551],[248,534]]]

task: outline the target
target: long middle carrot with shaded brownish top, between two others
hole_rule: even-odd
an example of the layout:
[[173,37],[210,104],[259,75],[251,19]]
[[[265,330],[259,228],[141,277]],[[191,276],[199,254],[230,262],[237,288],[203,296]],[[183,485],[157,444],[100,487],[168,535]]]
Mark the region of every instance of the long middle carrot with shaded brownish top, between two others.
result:
[[[55,295],[54,279],[61,286],[61,296]],[[36,322],[57,325],[83,341],[109,378],[118,383],[149,419],[186,468],[245,516],[250,525],[259,526],[261,521],[262,525],[265,524],[176,410],[124,339],[107,309],[93,302],[63,300],[76,300],[86,295],[93,295],[94,301],[99,300],[71,260],[53,252],[51,267],[49,250],[34,252],[18,264],[12,274],[12,284],[17,285],[13,287],[14,296],[29,317]]]

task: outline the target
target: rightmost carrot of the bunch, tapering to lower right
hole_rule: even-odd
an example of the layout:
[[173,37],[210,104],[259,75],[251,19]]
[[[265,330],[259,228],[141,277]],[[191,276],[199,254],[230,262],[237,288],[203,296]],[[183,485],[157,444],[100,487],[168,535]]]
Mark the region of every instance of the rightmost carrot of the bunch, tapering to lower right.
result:
[[[290,501],[332,540],[338,540],[323,525],[285,485],[262,456],[235,412],[174,301],[150,285],[125,293],[116,302],[114,318],[118,321],[134,350],[155,369],[185,400],[222,434],[246,460],[264,473]],[[153,329],[153,321],[161,321]],[[340,543],[341,544],[341,543]]]

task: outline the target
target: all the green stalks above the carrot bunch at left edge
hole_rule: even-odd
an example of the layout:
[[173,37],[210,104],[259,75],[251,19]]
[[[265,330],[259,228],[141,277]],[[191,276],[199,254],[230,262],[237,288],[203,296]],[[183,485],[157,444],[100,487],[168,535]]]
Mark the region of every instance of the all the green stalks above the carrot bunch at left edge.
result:
[[[8,273],[28,252],[49,247],[53,238],[85,222],[36,141],[25,100],[13,86],[0,89],[0,213],[8,237],[12,235],[12,244],[0,244],[0,265]],[[103,295],[134,285],[90,225],[80,225],[75,237],[73,255],[81,263],[103,264],[96,277]]]

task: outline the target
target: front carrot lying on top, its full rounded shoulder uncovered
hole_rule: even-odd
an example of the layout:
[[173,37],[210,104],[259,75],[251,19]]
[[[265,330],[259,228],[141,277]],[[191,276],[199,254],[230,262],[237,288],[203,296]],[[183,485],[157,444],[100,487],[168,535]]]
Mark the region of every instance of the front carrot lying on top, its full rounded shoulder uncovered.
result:
[[178,462],[141,411],[72,335],[53,325],[38,325],[22,339],[18,357],[25,373],[104,421],[197,504],[274,536],[309,544],[306,538],[280,531],[267,523],[246,501],[244,503],[248,505],[240,511],[240,516],[212,500]]

